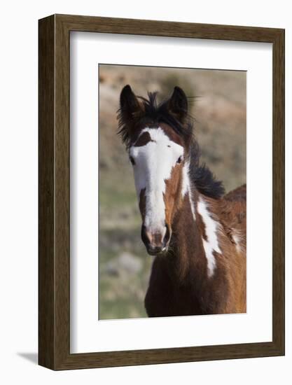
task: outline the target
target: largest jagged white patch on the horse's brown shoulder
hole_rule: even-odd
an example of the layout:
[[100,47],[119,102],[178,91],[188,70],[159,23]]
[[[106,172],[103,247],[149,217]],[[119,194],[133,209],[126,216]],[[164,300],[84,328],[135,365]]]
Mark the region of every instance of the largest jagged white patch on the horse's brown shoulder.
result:
[[211,217],[211,214],[208,211],[207,203],[202,197],[200,197],[197,202],[197,211],[200,216],[202,216],[202,221],[204,221],[205,225],[207,241],[205,239],[202,239],[202,241],[207,258],[208,276],[211,277],[216,268],[216,259],[213,252],[216,251],[216,253],[221,253],[217,237],[217,231],[220,228],[220,225]]

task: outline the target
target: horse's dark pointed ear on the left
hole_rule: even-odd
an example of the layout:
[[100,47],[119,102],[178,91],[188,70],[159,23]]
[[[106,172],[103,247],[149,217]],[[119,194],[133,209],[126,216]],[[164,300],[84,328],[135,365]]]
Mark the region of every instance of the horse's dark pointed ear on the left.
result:
[[143,106],[132,92],[130,85],[125,85],[120,92],[120,115],[127,124],[133,123],[143,111]]

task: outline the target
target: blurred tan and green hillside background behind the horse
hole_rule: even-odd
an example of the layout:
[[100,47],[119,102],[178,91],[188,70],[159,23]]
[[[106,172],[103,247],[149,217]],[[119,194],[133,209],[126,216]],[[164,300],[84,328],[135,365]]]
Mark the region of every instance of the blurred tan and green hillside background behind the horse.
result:
[[[152,257],[140,238],[132,166],[117,135],[120,91],[165,98],[179,85],[195,117],[201,160],[228,192],[246,181],[246,72],[99,65],[99,319],[146,317]],[[159,99],[159,98],[158,98]]]

